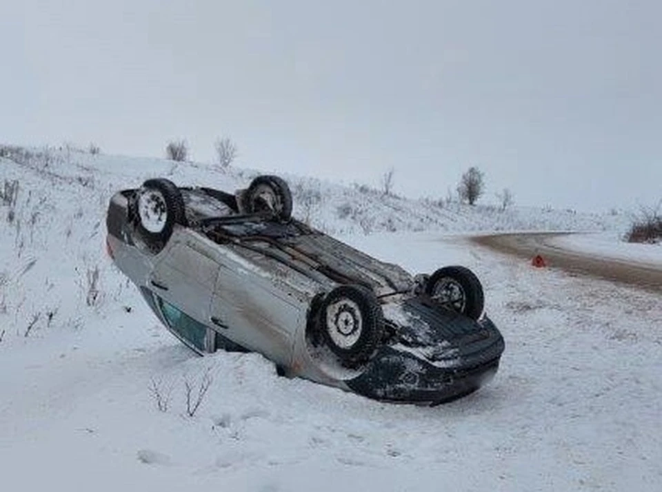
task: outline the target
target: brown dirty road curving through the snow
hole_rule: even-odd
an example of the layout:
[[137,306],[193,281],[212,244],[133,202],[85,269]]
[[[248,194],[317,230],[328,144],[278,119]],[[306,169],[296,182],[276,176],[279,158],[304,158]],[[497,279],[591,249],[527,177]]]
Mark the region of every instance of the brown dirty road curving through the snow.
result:
[[563,249],[551,243],[551,238],[563,235],[560,233],[494,234],[476,236],[472,241],[528,260],[540,254],[545,259],[547,267],[562,268],[566,271],[636,285],[662,293],[662,265],[593,256]]

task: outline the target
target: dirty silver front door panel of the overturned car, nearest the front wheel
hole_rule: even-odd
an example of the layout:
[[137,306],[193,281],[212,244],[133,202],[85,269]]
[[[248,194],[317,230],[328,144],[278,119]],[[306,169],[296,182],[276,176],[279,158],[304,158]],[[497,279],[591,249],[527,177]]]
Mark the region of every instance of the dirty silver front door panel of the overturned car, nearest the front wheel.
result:
[[305,313],[279,286],[274,271],[253,263],[249,252],[242,253],[240,257],[230,247],[221,251],[210,320],[233,342],[289,365],[294,334]]

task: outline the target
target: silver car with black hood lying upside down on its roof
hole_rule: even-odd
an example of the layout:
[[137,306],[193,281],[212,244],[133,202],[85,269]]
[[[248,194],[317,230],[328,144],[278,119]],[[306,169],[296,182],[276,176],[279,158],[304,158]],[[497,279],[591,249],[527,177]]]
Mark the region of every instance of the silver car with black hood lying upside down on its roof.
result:
[[199,354],[257,351],[286,376],[420,404],[494,376],[504,342],[469,269],[412,277],[291,214],[278,176],[234,194],[150,179],[112,196],[108,253]]

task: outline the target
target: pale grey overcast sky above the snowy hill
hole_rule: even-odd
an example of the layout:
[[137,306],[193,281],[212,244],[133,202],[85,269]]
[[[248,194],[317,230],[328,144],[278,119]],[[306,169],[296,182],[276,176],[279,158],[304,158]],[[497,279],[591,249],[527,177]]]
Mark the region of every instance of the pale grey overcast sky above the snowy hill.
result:
[[0,141],[238,165],[484,202],[662,198],[662,3],[0,0]]

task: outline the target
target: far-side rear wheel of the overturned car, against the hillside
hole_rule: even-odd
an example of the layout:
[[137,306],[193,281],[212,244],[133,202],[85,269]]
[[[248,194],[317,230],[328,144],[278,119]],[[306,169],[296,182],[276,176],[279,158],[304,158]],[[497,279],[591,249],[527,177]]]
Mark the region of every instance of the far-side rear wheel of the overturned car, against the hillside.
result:
[[246,190],[244,200],[249,214],[268,211],[280,221],[292,217],[292,192],[279,176],[257,176]]

